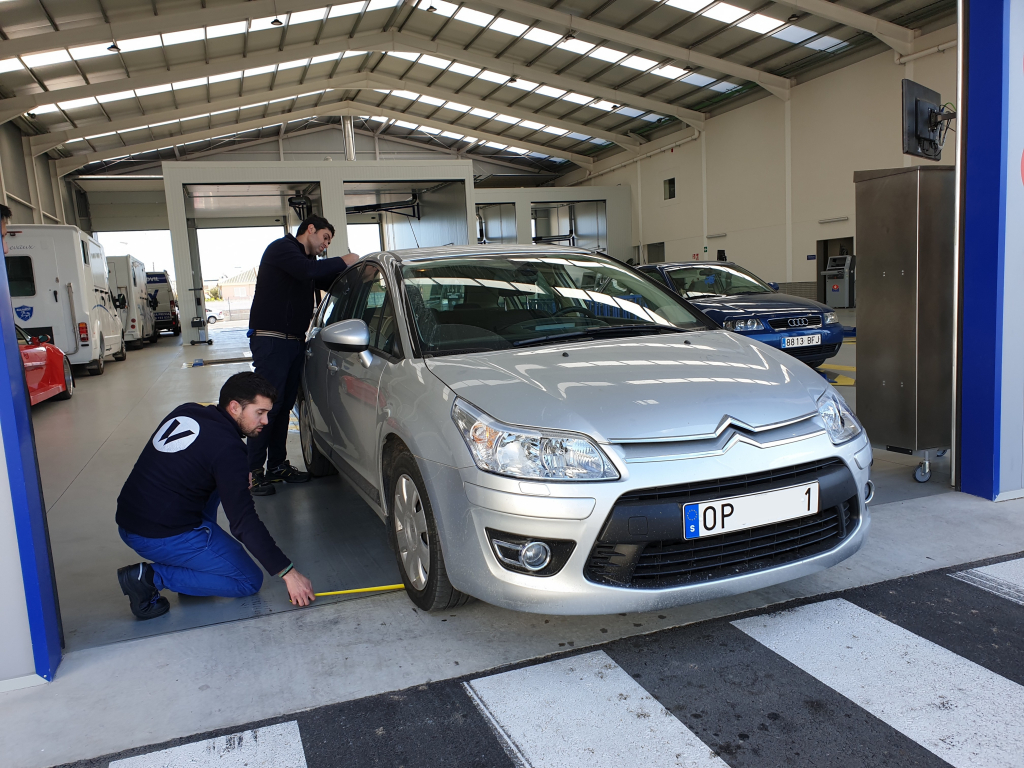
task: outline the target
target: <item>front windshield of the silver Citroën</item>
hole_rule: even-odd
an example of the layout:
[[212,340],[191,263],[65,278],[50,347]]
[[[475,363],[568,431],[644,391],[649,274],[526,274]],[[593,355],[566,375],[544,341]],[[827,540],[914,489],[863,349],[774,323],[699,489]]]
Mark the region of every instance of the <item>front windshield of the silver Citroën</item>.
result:
[[609,258],[510,254],[407,262],[426,355],[703,329],[667,290]]

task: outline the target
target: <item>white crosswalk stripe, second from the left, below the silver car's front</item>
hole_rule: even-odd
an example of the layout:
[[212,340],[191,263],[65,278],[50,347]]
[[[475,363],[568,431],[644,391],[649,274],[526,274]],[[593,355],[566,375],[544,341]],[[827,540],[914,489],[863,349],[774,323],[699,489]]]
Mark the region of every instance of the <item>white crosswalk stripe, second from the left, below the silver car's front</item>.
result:
[[604,651],[463,685],[527,768],[727,766]]

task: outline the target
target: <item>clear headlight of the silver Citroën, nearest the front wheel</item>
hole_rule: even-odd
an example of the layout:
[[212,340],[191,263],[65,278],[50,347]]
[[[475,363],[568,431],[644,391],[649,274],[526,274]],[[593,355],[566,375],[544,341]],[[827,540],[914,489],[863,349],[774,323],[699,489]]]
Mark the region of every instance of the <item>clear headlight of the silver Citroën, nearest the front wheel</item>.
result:
[[584,435],[502,424],[461,399],[452,407],[452,420],[486,472],[538,480],[618,479],[614,465]]

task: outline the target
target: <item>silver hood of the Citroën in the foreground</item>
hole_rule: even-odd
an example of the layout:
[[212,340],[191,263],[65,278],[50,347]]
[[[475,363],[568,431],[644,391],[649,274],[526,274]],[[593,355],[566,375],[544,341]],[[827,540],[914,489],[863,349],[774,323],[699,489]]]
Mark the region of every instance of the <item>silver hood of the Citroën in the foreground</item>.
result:
[[725,331],[433,357],[427,367],[499,421],[610,442],[711,434],[726,418],[778,424],[813,413],[826,387],[799,360]]

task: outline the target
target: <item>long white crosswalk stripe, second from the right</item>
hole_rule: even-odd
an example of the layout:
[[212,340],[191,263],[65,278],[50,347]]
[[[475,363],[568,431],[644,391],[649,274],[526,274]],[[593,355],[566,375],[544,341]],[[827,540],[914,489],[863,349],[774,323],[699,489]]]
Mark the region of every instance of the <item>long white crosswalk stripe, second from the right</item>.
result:
[[846,600],[732,624],[957,768],[1021,765],[1017,683]]

